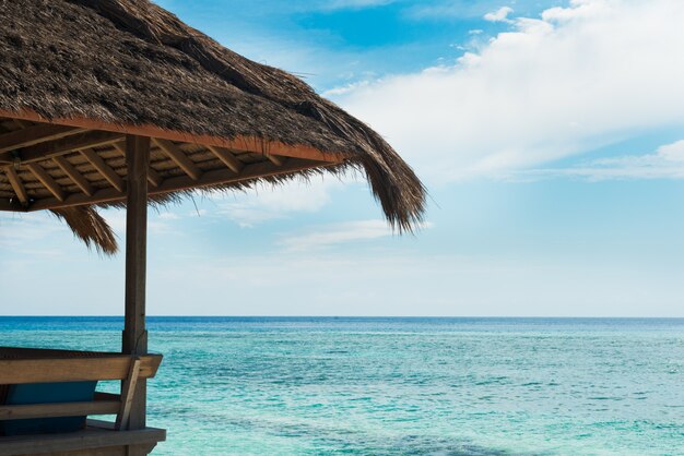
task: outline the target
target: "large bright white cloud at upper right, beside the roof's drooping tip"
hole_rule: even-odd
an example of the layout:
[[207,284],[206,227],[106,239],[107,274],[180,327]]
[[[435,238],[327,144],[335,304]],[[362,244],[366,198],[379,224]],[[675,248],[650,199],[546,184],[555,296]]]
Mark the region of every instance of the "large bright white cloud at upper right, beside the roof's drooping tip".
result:
[[455,65],[337,98],[433,182],[530,169],[684,128],[684,2],[581,0],[517,17]]

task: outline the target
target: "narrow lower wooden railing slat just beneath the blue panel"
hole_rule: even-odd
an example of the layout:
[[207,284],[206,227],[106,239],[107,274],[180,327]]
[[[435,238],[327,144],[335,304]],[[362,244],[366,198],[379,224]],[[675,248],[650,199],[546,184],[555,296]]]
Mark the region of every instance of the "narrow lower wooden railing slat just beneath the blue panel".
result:
[[91,403],[32,404],[0,406],[0,421],[28,418],[82,417],[89,415],[113,415],[121,407],[119,401],[94,400]]

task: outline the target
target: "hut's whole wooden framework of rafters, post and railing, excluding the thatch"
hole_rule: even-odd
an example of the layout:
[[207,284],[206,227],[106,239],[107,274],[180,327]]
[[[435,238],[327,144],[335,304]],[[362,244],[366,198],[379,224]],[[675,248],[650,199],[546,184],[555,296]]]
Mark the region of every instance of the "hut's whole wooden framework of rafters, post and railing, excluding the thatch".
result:
[[[27,357],[26,351],[16,359],[0,356],[0,385],[121,381],[120,394],[96,393],[94,400],[85,403],[0,405],[0,421],[116,415],[116,422],[94,425],[89,420],[89,429],[79,435],[0,437],[0,455],[146,455],[165,439],[165,431],[146,428],[146,380],[154,376],[162,359],[148,355],[145,328],[150,196],[213,185],[239,187],[259,178],[333,167],[349,154],[323,153],[308,145],[256,136],[228,140],[152,125],[45,119],[31,111],[0,110],[0,118],[14,121],[3,123],[5,133],[0,133],[0,173],[5,177],[0,211],[120,202],[127,206],[122,355],[74,359],[52,350],[49,359]],[[155,168],[151,166],[152,152]],[[126,169],[121,167],[121,155]]]

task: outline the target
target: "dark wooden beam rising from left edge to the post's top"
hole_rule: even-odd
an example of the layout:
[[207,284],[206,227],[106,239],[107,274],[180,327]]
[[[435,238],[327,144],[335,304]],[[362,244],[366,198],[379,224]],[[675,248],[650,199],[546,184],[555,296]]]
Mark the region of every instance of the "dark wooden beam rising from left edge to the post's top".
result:
[[0,161],[9,160],[13,163],[15,158],[19,158],[22,164],[42,161],[74,151],[108,145],[121,141],[122,137],[123,135],[120,133],[92,131],[25,147],[20,151],[19,157],[14,157],[10,152],[0,153]]

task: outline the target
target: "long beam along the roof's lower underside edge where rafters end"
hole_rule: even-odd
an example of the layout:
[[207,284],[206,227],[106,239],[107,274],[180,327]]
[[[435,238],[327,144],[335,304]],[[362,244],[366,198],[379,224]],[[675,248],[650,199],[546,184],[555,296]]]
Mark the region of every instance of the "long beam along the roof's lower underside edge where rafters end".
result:
[[[220,185],[229,184],[236,182],[244,182],[250,179],[263,177],[263,176],[280,176],[291,172],[297,172],[305,169],[322,168],[326,166],[334,166],[331,164],[321,164],[320,161],[303,160],[299,158],[291,158],[282,167],[276,167],[270,161],[262,161],[252,165],[246,165],[238,176],[229,169],[217,169],[213,171],[207,171],[202,175],[199,181],[192,180],[188,176],[177,176],[174,178],[167,178],[162,185],[156,189],[150,190],[150,195],[158,195],[178,190],[200,189],[205,185]],[[28,212],[51,209],[59,207],[80,206],[84,204],[98,204],[98,203],[113,203],[126,200],[126,194],[118,192],[116,189],[103,189],[95,192],[92,197],[84,194],[69,195],[64,202],[59,202],[56,199],[44,199],[32,203],[28,206]]]

